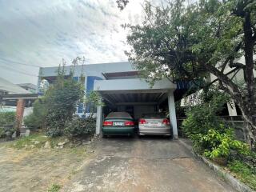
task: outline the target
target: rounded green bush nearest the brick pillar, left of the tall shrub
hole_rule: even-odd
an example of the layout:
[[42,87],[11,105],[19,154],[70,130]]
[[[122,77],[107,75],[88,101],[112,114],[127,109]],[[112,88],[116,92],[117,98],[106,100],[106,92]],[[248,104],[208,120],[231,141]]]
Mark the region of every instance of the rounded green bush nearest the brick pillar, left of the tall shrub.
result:
[[31,130],[45,128],[46,126],[46,104],[45,100],[38,99],[33,103],[33,113],[24,118],[24,124]]

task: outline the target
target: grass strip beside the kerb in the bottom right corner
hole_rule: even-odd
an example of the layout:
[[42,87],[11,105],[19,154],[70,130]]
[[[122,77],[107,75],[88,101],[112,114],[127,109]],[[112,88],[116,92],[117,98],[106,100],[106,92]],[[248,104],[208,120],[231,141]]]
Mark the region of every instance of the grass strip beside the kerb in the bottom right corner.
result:
[[228,165],[230,171],[247,186],[256,190],[256,170],[252,169],[246,163],[235,160]]

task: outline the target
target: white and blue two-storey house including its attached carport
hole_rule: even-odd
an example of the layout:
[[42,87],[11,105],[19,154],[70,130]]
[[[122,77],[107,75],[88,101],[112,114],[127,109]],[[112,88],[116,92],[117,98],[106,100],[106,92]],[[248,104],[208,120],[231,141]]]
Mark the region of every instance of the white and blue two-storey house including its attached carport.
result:
[[[70,73],[66,66],[66,76]],[[40,68],[38,90],[42,80],[50,84],[56,80],[58,66]],[[83,74],[83,75],[81,75]],[[80,77],[83,77],[80,79]],[[110,111],[127,111],[135,119],[144,113],[170,111],[170,122],[173,127],[174,138],[178,137],[176,112],[174,101],[182,98],[182,94],[189,88],[189,83],[179,82],[174,85],[168,79],[156,82],[153,87],[145,79],[141,79],[138,71],[130,62],[111,62],[76,66],[74,79],[84,82],[86,92],[97,90],[106,106],[97,107],[96,133],[101,133],[102,114],[106,116]],[[42,94],[42,93],[38,93]],[[78,114],[88,114],[92,111],[90,105],[78,106]]]

